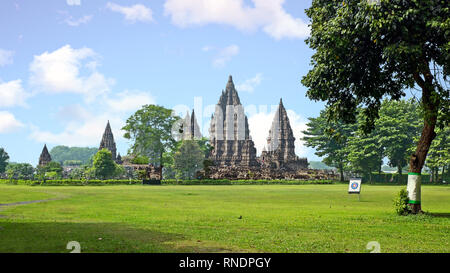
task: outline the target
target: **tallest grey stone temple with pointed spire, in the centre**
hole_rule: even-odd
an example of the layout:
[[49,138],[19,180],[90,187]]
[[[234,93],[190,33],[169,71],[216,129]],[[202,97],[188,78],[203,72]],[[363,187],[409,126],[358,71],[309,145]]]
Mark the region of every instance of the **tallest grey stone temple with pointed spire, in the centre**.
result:
[[216,166],[258,166],[248,120],[231,76],[211,117],[209,136],[213,147],[209,159]]

